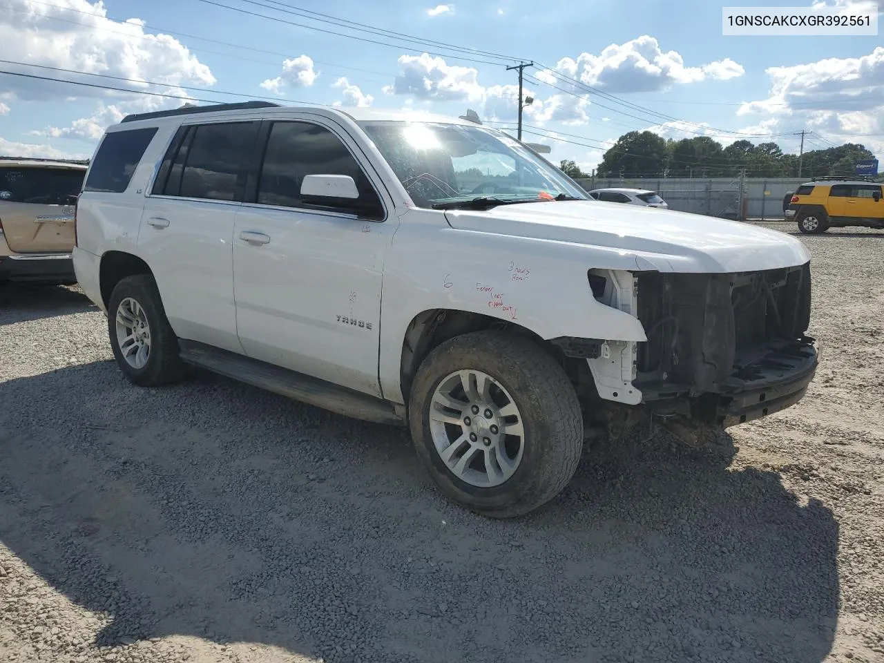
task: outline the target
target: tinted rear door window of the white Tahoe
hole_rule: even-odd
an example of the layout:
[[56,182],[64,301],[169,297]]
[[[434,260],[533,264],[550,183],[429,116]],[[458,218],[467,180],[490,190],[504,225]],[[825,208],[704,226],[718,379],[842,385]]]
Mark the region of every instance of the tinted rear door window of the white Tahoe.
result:
[[[248,163],[255,147],[255,122],[194,127],[172,165],[167,194],[216,201],[242,200]],[[180,165],[183,164],[183,170]]]

